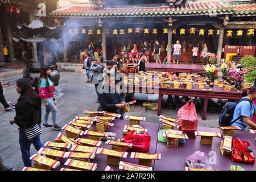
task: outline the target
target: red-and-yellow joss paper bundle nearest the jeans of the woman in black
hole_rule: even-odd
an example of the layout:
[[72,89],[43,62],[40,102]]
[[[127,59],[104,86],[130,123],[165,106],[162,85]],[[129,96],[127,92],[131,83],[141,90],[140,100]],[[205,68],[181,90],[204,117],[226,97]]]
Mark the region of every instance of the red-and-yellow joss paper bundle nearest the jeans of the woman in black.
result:
[[35,164],[35,168],[42,168],[42,169],[51,169],[51,168],[57,168],[60,166],[60,162],[57,160],[53,160],[50,158],[46,158],[44,156],[34,154],[30,157],[30,160],[32,160]]

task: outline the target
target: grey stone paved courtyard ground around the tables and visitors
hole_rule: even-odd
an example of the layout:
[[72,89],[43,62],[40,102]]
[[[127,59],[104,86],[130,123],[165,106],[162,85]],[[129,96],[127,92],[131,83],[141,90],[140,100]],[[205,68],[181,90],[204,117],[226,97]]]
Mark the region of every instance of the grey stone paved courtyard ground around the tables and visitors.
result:
[[[98,104],[95,104],[96,93],[94,92],[94,85],[85,84],[84,74],[61,72],[60,76],[60,84],[57,89],[63,95],[57,100],[57,119],[62,127],[85,109],[97,110]],[[5,97],[7,101],[16,101],[18,99],[14,86],[9,86],[5,89]],[[137,95],[136,97],[141,96]],[[42,108],[44,113],[44,106]],[[131,112],[129,114],[144,116],[147,122],[158,122],[157,111],[147,109],[146,113]],[[162,114],[176,117],[177,111],[163,108]],[[198,115],[199,126],[218,127],[218,113],[208,113],[207,121],[202,121],[200,114]],[[0,116],[0,155],[8,166],[14,167],[15,170],[21,170],[23,162],[19,149],[18,127],[16,125],[11,126],[9,123],[10,119],[14,118],[15,111],[5,112],[3,111],[3,106],[0,105]],[[51,123],[50,118],[51,115],[49,123]],[[41,140],[44,144],[48,140],[54,140],[59,131],[42,129],[42,133]],[[36,150],[32,146],[31,155],[35,153]]]

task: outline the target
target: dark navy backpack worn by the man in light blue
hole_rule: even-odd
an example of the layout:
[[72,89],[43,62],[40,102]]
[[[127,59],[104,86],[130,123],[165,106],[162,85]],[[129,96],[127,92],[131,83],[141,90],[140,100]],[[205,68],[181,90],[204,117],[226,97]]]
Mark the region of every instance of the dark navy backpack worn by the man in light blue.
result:
[[[220,118],[218,118],[218,125],[220,126],[230,126],[232,125],[234,122],[236,122],[238,119],[242,118],[242,115],[240,115],[240,117],[234,119],[234,121],[232,121],[233,118],[233,114],[234,114],[234,110],[236,108],[236,106],[242,102],[242,101],[248,101],[251,104],[251,101],[248,98],[242,98],[240,101],[238,102],[228,102],[222,109],[221,114],[220,114]],[[232,121],[232,122],[231,122]]]

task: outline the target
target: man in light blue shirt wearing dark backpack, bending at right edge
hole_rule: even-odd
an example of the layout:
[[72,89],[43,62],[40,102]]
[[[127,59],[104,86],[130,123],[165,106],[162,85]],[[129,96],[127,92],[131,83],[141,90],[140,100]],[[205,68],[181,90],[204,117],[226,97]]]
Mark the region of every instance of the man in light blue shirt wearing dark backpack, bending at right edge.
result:
[[256,123],[251,121],[253,115],[256,115],[253,100],[256,100],[256,86],[249,88],[247,96],[237,103],[228,102],[224,106],[220,114],[220,126],[238,126],[241,130],[246,130],[246,127],[250,126],[256,129]]

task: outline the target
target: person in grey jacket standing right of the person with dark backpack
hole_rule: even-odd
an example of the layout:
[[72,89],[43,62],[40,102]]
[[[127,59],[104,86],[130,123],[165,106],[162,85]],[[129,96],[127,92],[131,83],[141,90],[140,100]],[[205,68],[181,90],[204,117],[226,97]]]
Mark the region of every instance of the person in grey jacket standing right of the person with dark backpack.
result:
[[[92,84],[95,85],[97,97],[98,97],[98,84],[100,84],[102,81],[102,77],[100,76],[102,76],[101,73],[103,73],[104,67],[105,65],[103,64],[103,57],[98,57],[97,62],[96,63],[93,62],[93,64],[90,66],[90,71],[93,71]],[[98,98],[96,103],[98,103]]]

